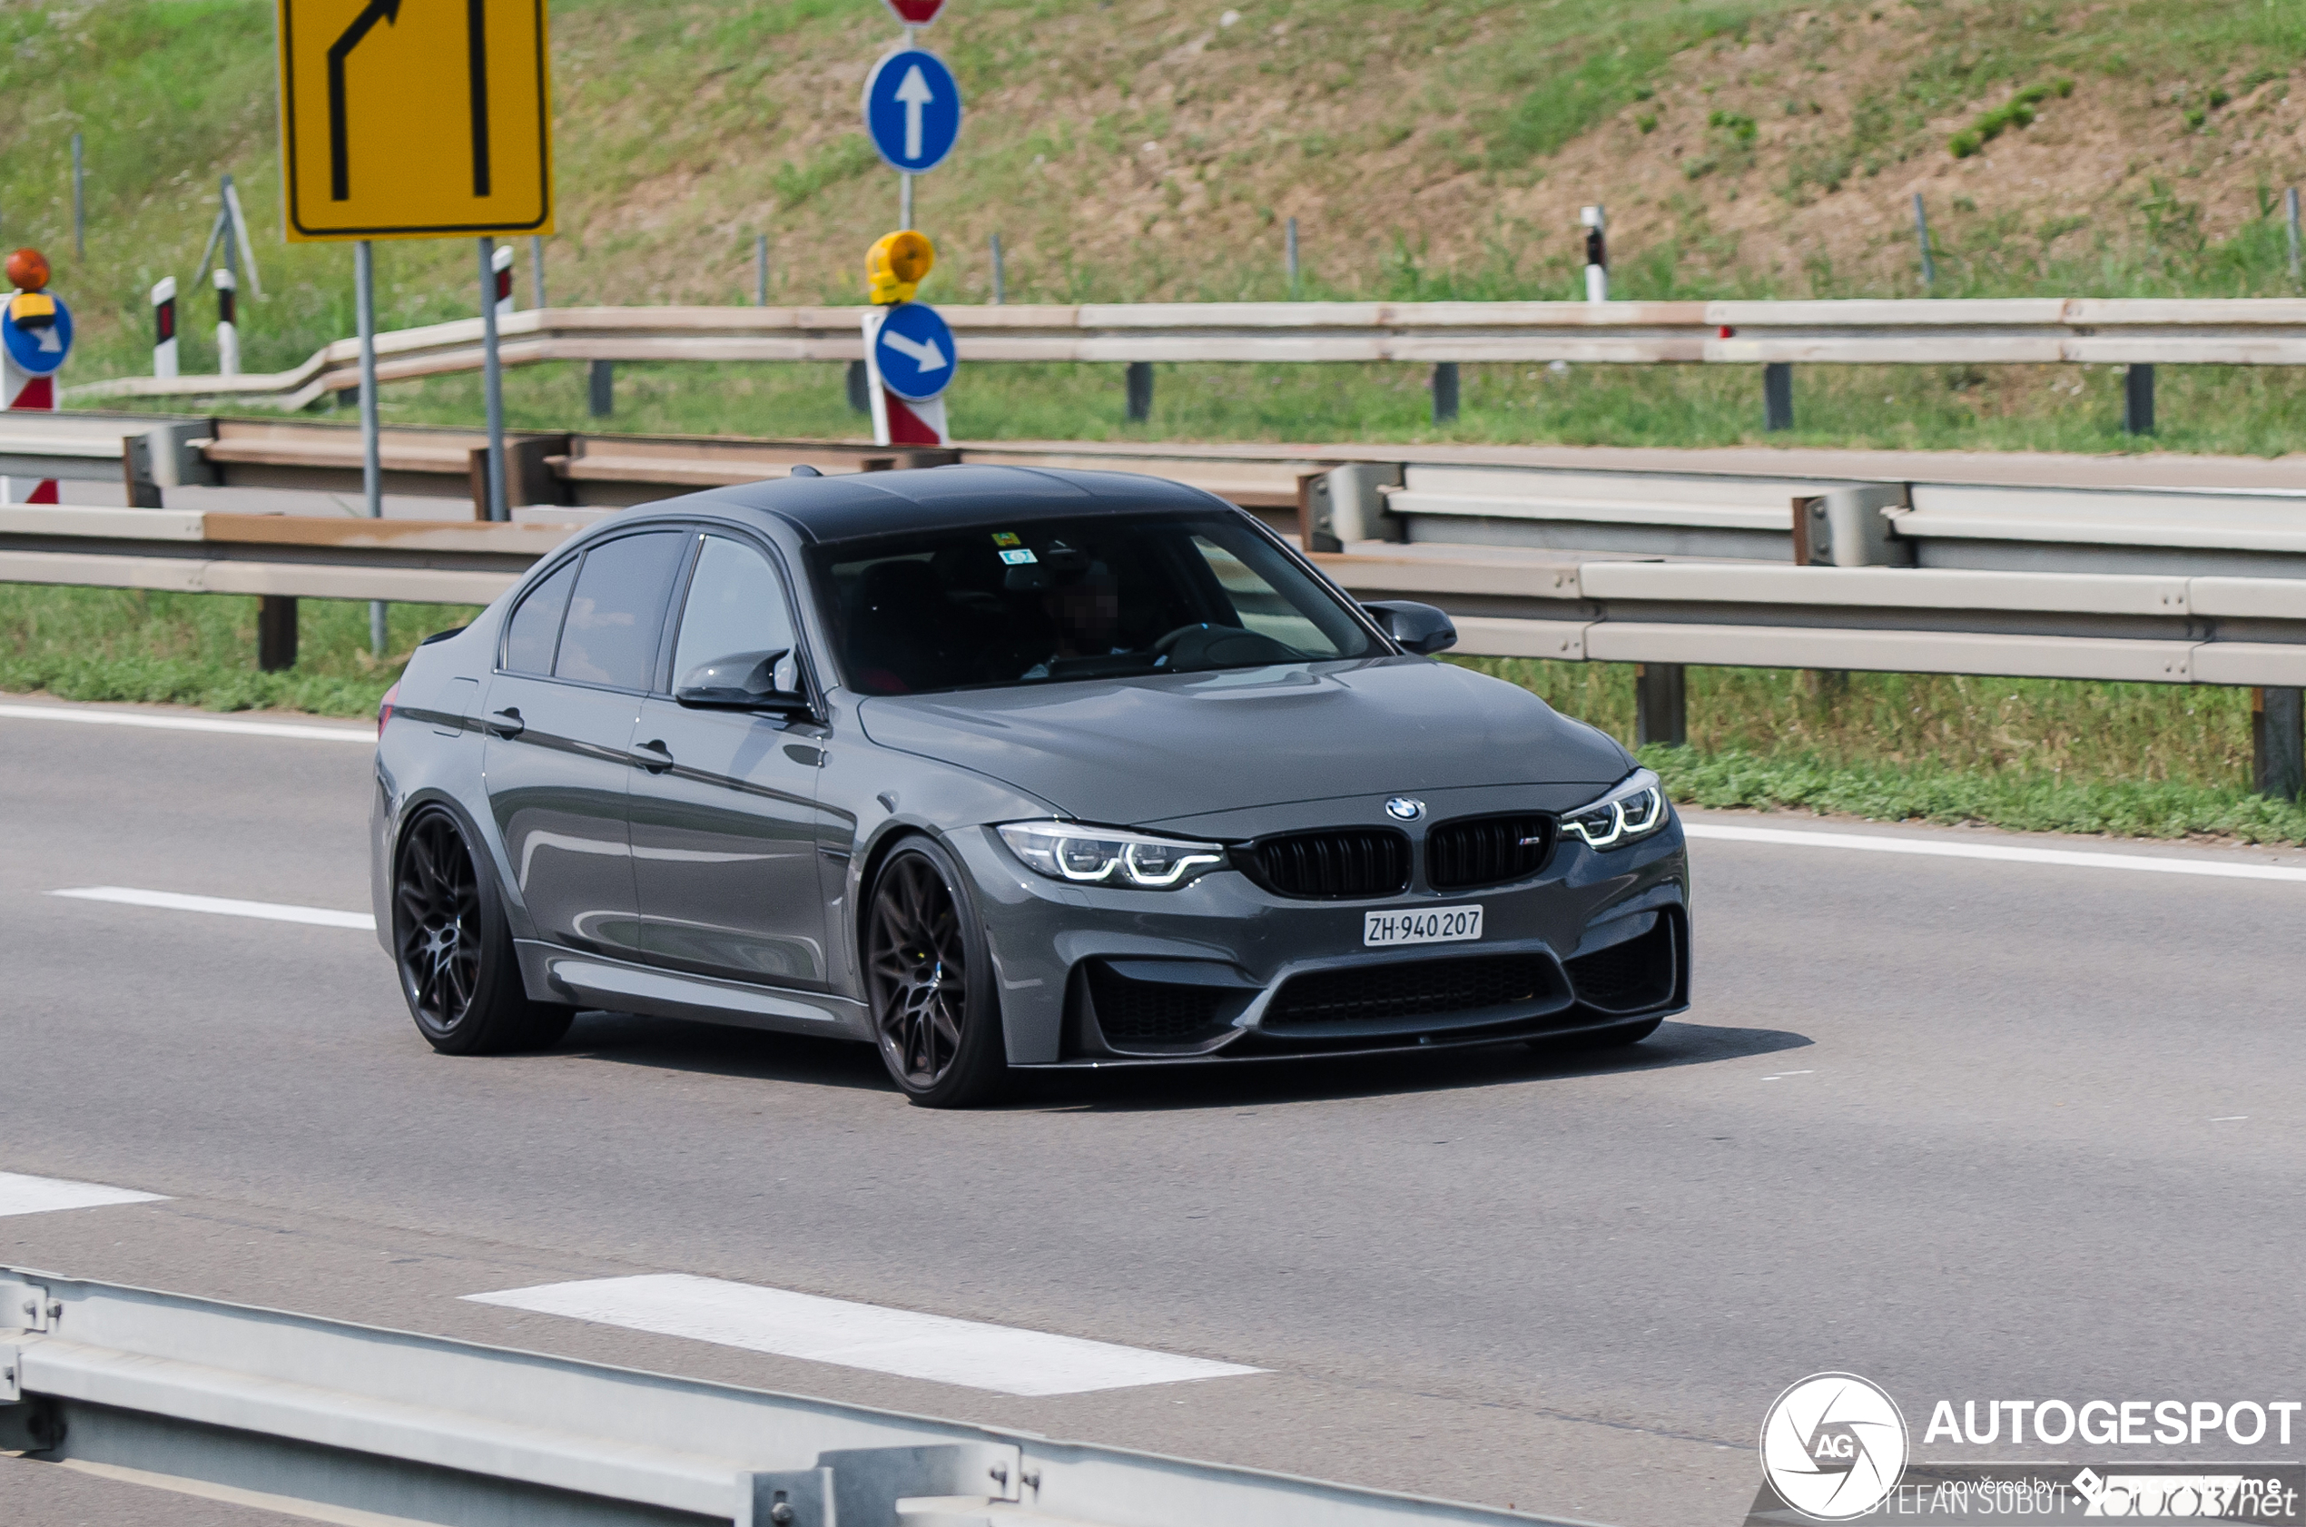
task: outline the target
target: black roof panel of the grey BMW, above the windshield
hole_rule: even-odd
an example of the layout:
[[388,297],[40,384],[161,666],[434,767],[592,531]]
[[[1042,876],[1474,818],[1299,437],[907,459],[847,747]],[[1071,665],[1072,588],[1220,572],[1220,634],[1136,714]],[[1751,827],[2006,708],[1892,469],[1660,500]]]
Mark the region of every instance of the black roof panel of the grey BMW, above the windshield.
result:
[[687,503],[761,510],[793,526],[805,540],[819,542],[892,531],[950,531],[987,519],[1017,524],[1082,514],[1231,507],[1215,494],[1167,477],[1079,473],[1052,466],[922,466],[902,473],[777,477],[692,494]]

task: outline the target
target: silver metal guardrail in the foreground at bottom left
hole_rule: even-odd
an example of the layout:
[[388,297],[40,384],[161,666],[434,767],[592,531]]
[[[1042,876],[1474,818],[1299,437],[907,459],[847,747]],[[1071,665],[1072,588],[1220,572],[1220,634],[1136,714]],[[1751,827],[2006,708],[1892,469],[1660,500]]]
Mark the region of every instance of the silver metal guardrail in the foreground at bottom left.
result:
[[0,1449],[475,1527],[1550,1520],[16,1269]]

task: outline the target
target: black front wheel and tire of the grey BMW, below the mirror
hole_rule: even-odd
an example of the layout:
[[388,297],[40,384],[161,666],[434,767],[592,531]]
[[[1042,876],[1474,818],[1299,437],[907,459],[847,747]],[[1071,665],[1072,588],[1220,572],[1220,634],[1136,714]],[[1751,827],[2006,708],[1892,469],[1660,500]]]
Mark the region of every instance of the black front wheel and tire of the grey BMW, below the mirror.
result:
[[978,1107],[1008,1091],[985,923],[969,877],[927,837],[897,844],[874,874],[865,990],[881,1061],[915,1105]]

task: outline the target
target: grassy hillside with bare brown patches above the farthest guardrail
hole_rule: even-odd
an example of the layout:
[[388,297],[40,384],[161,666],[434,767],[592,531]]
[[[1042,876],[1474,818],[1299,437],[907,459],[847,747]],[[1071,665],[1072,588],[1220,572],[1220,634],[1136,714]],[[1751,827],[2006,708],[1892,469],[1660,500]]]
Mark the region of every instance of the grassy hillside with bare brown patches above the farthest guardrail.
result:
[[[2288,291],[2278,187],[2306,173],[2297,7],[2260,0],[955,0],[932,28],[969,127],[920,182],[978,300],[1573,295],[1575,210],[1612,212],[1623,295],[1914,293],[1923,191],[1944,293]],[[856,122],[895,28],[874,0],[553,5],[560,302],[853,300],[895,178]],[[191,274],[235,173],[270,300],[254,367],[348,330],[351,256],[279,242],[272,7],[0,9],[0,238],[134,364],[141,291]],[[2032,85],[2066,85],[1958,157]],[[2025,115],[2025,113],[2020,113]],[[88,258],[67,138],[88,136]],[[464,240],[385,249],[392,323],[473,311]],[[191,348],[205,323],[189,325]],[[201,360],[194,355],[191,360]]]

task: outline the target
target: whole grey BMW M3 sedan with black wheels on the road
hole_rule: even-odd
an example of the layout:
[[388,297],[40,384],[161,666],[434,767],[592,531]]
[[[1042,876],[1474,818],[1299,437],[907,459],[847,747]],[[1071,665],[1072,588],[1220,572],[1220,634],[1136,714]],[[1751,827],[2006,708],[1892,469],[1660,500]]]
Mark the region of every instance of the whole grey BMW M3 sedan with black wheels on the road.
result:
[[915,1103],[1098,1066],[1633,1043],[1688,863],[1612,738],[1199,489],[996,466],[613,514],[378,715],[422,1036],[872,1043]]

